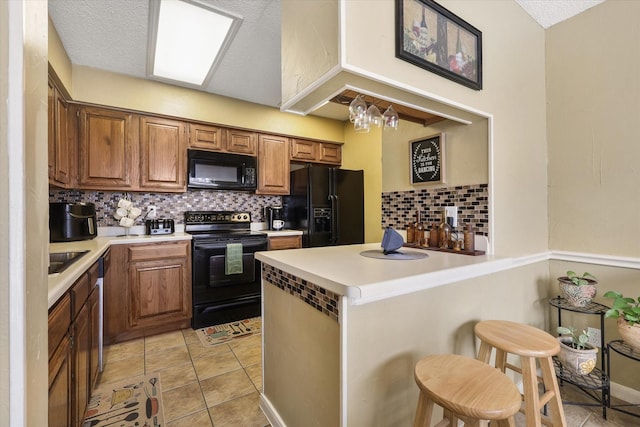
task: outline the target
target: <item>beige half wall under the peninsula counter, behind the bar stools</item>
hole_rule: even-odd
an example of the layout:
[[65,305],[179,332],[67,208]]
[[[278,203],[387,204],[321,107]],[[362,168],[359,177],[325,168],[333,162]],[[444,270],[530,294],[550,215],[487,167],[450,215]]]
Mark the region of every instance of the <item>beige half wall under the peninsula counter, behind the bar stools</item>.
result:
[[[427,354],[474,357],[473,326],[507,319],[547,330],[546,262],[364,305],[349,305],[343,352],[349,427],[408,426],[416,362]],[[446,307],[446,309],[443,309]]]

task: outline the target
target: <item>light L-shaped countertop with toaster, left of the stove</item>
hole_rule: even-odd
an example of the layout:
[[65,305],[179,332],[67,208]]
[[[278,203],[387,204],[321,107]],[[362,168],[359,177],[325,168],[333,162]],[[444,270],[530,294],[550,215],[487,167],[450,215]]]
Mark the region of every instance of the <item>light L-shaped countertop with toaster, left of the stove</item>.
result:
[[[122,230],[120,228],[120,230]],[[94,262],[104,254],[107,249],[112,245],[122,245],[131,243],[153,243],[153,242],[167,242],[174,240],[191,240],[191,235],[183,232],[176,232],[173,234],[163,235],[130,235],[130,236],[117,236],[117,235],[100,235],[91,240],[80,240],[77,242],[61,242],[50,243],[49,253],[55,252],[76,252],[76,251],[89,251],[86,255],[82,256],[76,262],[71,264],[62,273],[50,274],[48,279],[49,287],[49,308],[51,308],[58,299],[64,295],[64,293],[75,283],[76,280],[85,272]]]

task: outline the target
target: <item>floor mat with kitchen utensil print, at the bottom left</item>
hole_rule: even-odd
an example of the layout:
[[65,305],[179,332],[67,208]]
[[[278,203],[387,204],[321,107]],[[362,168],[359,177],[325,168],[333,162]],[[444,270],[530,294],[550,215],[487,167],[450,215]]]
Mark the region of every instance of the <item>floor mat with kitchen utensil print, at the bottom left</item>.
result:
[[162,427],[160,377],[149,374],[98,386],[82,427]]

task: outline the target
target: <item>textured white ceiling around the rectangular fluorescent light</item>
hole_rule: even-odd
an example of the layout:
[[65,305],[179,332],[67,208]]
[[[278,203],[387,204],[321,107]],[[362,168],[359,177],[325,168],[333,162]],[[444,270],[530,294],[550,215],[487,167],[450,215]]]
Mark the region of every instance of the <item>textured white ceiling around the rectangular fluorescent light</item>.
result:
[[[278,107],[280,0],[200,0],[243,22],[207,92]],[[543,28],[604,0],[516,0]],[[71,62],[146,77],[149,0],[49,0]]]

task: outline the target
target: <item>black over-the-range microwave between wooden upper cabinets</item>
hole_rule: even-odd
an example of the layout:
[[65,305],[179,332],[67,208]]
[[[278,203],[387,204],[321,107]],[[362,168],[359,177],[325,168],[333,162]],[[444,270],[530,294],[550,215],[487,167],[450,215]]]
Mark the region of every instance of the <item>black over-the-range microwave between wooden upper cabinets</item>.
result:
[[257,161],[243,154],[188,150],[187,188],[252,191],[257,186]]

